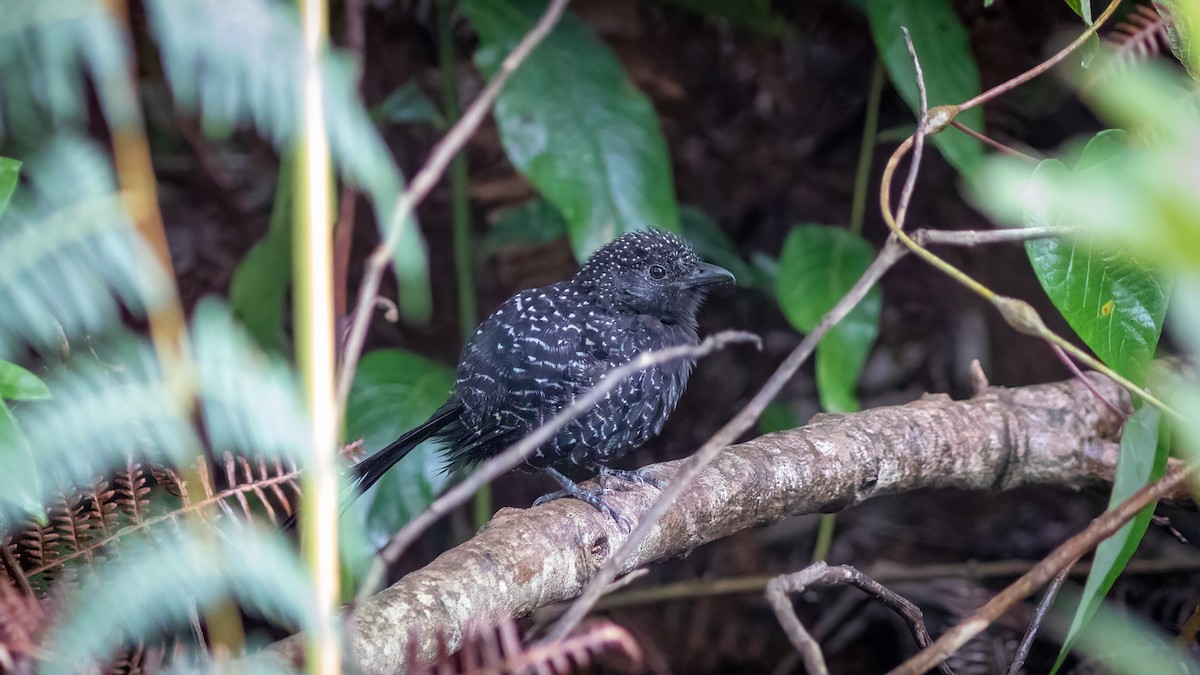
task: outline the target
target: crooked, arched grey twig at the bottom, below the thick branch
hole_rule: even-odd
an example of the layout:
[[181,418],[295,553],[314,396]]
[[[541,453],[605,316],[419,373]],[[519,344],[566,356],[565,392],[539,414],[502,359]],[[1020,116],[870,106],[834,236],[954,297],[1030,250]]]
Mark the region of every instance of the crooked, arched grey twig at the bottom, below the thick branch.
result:
[[[767,601],[770,603],[772,609],[775,610],[775,617],[779,619],[779,623],[787,633],[787,638],[799,650],[800,656],[804,658],[804,665],[810,674],[820,673],[828,675],[829,670],[826,667],[824,655],[821,653],[821,645],[817,644],[812,635],[804,628],[804,625],[800,623],[799,617],[796,616],[796,609],[792,607],[792,599],[788,595],[803,593],[814,586],[846,585],[854,586],[864,593],[874,596],[884,607],[899,614],[908,623],[912,637],[917,640],[917,646],[924,649],[934,641],[925,628],[925,620],[922,616],[920,609],[907,598],[848,565],[829,567],[824,562],[817,561],[794,574],[775,577],[767,583]],[[944,663],[940,663],[937,669],[944,675],[954,675]]]

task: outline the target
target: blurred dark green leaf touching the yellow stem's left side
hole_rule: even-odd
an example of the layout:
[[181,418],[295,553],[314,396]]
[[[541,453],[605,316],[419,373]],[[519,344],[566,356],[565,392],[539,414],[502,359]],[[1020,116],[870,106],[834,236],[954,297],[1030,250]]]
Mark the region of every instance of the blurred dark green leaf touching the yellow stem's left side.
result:
[[280,162],[271,221],[263,237],[238,263],[229,283],[229,304],[246,330],[266,350],[283,351],[283,315],[292,285],[292,153]]

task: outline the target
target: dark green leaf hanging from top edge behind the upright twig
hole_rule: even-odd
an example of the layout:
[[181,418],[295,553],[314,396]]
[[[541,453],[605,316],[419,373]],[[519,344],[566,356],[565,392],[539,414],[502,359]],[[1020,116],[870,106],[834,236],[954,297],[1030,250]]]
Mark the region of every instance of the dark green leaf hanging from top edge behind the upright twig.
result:
[[[962,103],[979,94],[979,67],[949,0],[870,0],[866,14],[875,36],[875,47],[888,68],[900,96],[920,109],[917,72],[900,26],[912,34],[912,43],[925,73],[929,107]],[[959,123],[983,131],[983,110],[972,108],[959,114]],[[971,177],[983,160],[983,145],[974,138],[947,130],[932,142],[960,173]]]

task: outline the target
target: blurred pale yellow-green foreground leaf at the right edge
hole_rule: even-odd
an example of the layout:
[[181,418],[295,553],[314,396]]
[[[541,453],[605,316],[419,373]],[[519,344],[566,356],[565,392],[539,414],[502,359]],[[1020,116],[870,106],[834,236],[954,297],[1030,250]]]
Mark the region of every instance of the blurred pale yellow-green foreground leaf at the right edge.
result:
[[1098,113],[1136,138],[1086,171],[1032,172],[1012,157],[991,157],[972,183],[974,201],[997,219],[1020,223],[1028,211],[1079,225],[1088,243],[1162,269],[1200,268],[1200,118],[1194,84],[1153,64],[1116,70],[1090,90]]

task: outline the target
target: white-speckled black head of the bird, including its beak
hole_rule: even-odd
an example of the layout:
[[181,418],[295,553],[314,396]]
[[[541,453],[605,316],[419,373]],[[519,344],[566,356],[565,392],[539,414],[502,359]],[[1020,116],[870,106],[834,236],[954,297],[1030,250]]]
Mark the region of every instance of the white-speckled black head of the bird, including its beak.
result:
[[659,229],[630,232],[600,247],[575,281],[596,304],[695,323],[709,288],[732,283],[728,270],[702,262],[686,241]]

